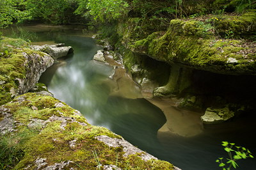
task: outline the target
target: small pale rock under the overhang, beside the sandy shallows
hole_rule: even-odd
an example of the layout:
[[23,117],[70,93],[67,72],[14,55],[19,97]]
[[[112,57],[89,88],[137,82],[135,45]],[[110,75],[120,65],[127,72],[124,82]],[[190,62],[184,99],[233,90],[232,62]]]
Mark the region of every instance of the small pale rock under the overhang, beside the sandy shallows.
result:
[[228,106],[220,109],[208,107],[201,119],[205,124],[216,124],[227,121],[232,117],[234,117],[234,112],[230,111]]

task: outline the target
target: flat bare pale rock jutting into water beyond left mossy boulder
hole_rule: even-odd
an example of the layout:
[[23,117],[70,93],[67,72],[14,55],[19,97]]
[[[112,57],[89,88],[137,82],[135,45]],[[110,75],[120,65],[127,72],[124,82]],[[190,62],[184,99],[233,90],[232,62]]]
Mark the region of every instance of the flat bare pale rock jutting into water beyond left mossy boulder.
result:
[[58,43],[56,45],[33,45],[32,48],[45,52],[54,59],[65,57],[74,51],[71,46],[65,46],[64,43]]

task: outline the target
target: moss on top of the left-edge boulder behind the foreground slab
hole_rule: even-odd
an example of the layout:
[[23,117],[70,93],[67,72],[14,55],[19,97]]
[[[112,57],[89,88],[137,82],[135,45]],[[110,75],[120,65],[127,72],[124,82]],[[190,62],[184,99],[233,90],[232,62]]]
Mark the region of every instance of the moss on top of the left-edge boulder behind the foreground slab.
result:
[[26,78],[29,68],[25,65],[24,52],[29,55],[45,55],[29,49],[28,45],[29,43],[24,40],[6,37],[3,37],[0,42],[0,81],[3,81],[0,84],[0,105],[9,102],[13,96],[17,95],[20,85],[17,79]]

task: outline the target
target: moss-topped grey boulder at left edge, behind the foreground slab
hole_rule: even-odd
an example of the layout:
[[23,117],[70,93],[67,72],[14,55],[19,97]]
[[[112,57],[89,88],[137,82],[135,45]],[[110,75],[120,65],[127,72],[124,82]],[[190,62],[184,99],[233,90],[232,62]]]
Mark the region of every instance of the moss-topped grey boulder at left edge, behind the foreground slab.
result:
[[28,92],[53,59],[21,39],[0,40],[0,105]]

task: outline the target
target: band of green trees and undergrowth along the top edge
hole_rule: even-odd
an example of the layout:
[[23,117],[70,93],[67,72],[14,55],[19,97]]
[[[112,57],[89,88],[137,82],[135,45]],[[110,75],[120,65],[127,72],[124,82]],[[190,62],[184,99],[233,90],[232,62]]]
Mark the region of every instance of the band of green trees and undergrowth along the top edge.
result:
[[[51,24],[72,24],[76,20],[110,22],[127,15],[148,19],[173,19],[207,13],[243,13],[256,8],[251,0],[1,0],[0,27],[39,20]],[[95,22],[94,21],[94,22]],[[81,23],[81,22],[78,22]]]

